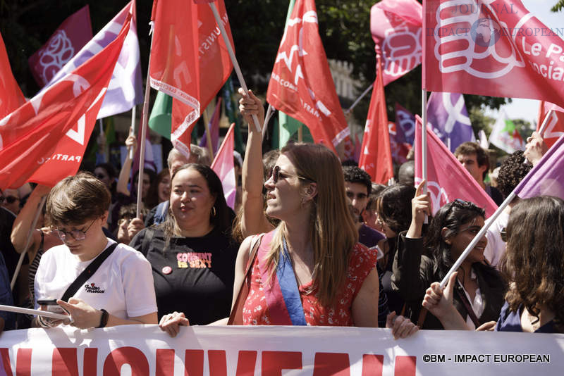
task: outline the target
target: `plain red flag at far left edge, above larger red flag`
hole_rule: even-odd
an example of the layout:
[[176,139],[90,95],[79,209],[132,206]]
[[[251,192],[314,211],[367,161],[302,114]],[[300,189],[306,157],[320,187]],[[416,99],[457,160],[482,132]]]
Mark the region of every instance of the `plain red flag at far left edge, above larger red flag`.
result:
[[[4,39],[0,35],[0,119],[25,103],[18,82],[12,75],[12,68],[6,53]],[[1,139],[0,139],[1,147]]]

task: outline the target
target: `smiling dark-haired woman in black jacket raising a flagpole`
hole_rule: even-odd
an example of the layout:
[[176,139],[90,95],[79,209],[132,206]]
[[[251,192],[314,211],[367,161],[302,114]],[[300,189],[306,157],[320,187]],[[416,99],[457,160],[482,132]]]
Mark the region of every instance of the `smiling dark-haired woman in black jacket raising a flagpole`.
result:
[[[474,203],[455,200],[439,209],[421,237],[425,215],[431,214],[428,194],[422,194],[425,182],[417,187],[412,200],[412,221],[407,233],[400,234],[398,252],[393,261],[392,285],[407,303],[406,314],[422,329],[443,329],[438,318],[421,313],[422,300],[432,282],[440,281],[474,236],[484,226],[484,209]],[[453,303],[465,325],[475,329],[496,320],[506,284],[500,273],[484,258],[487,239],[483,237],[460,268]]]

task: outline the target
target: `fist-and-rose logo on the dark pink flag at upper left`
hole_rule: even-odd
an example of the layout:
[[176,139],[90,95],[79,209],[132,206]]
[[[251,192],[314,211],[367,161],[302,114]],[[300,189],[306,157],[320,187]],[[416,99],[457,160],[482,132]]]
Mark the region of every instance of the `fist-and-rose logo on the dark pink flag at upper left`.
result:
[[51,77],[59,72],[74,55],[73,43],[67,37],[65,30],[57,30],[49,40],[49,46],[39,52],[39,65],[41,65],[41,76],[44,82],[49,82]]

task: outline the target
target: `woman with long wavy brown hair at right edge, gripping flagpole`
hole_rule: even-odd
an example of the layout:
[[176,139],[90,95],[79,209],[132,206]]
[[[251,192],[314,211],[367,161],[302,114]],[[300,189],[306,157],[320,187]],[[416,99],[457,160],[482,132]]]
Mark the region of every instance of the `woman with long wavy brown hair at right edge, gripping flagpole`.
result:
[[[564,333],[564,201],[552,196],[519,201],[511,209],[506,239],[501,272],[509,289],[498,322],[484,329]],[[445,327],[465,329],[450,301],[451,289],[447,285],[443,294],[438,282],[432,284],[424,306]]]

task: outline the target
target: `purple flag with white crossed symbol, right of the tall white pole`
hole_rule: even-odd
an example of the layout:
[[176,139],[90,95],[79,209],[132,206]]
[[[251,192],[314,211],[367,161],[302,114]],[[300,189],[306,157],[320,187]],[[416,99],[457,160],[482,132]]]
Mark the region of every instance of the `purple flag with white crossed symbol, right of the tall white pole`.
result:
[[463,142],[476,140],[462,94],[431,93],[427,103],[427,123],[453,153]]

